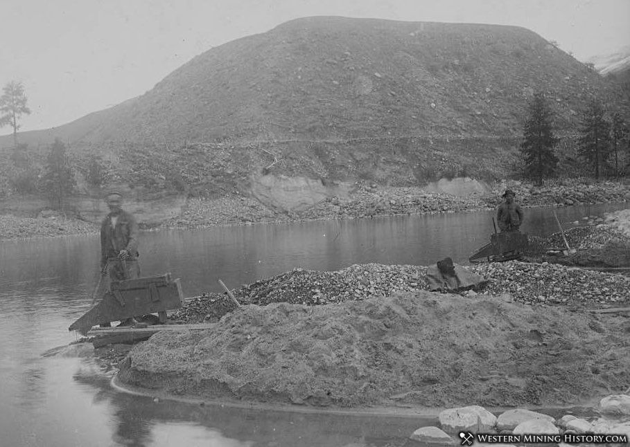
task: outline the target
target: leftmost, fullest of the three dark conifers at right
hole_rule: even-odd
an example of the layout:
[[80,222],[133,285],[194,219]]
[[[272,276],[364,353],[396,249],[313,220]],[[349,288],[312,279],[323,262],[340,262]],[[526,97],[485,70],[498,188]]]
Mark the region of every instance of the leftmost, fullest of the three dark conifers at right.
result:
[[552,175],[558,165],[554,147],[558,140],[552,131],[552,110],[542,93],[534,93],[529,104],[529,118],[523,128],[520,152],[525,156],[525,175],[543,184],[543,177]]

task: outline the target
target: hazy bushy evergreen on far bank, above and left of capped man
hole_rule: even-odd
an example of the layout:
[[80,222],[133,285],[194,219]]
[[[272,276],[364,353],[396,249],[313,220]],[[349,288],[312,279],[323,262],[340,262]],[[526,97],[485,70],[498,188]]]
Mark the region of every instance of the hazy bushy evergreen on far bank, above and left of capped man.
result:
[[62,210],[64,199],[69,196],[76,187],[74,174],[70,166],[66,146],[59,138],[51,145],[51,150],[46,157],[45,174],[42,185],[51,203],[56,209]]

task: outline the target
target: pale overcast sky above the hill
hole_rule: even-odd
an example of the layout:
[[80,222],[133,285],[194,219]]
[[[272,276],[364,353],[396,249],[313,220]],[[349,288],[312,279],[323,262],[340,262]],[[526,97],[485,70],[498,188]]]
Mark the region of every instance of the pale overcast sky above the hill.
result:
[[[24,83],[21,130],[141,95],[192,57],[313,15],[529,28],[578,60],[630,45],[630,0],[2,0],[0,85]],[[10,133],[9,127],[0,134]]]

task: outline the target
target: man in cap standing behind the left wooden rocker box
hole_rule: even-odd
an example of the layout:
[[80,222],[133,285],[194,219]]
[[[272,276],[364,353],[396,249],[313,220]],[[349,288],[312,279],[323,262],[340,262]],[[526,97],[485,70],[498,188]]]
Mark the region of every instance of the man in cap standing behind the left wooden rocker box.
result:
[[[136,219],[122,209],[120,192],[107,194],[110,213],[100,224],[100,268],[110,275],[110,280],[135,280],[140,276],[138,263],[138,224]],[[137,321],[128,318],[121,326],[132,326]]]

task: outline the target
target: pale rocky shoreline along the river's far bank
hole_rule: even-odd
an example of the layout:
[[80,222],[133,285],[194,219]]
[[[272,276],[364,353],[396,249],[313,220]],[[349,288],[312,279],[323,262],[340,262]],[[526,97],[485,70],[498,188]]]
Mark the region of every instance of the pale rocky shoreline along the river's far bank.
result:
[[[295,224],[309,221],[377,219],[410,215],[436,215],[491,211],[500,203],[502,190],[516,191],[523,208],[560,208],[630,203],[630,185],[616,182],[566,181],[543,188],[530,183],[504,181],[486,194],[456,196],[425,192],[419,187],[360,185],[345,199],[332,197],[301,212],[279,212],[242,196],[218,200],[191,198],[178,217],[143,225],[141,232],[203,230],[258,224]],[[578,200],[577,198],[581,199]],[[40,237],[96,235],[99,226],[75,218],[15,217],[0,215],[0,241],[24,241]]]

